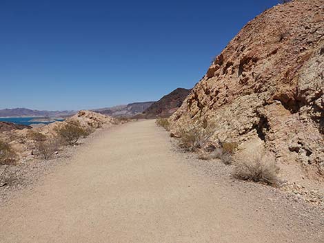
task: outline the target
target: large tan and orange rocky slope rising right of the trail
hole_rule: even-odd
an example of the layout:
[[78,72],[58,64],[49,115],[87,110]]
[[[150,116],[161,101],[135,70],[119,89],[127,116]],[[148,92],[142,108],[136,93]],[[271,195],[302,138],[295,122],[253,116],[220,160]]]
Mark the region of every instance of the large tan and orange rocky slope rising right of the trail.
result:
[[172,131],[214,123],[215,144],[260,145],[284,176],[323,180],[323,20],[323,0],[295,0],[247,23],[172,115]]

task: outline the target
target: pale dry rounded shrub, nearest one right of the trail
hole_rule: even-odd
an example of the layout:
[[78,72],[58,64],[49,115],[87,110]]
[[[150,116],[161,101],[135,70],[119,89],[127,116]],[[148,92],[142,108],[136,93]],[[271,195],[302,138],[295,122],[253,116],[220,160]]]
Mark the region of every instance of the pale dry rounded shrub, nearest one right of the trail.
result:
[[239,180],[251,180],[276,186],[279,184],[279,167],[272,156],[265,156],[256,151],[244,155],[236,161],[233,176]]

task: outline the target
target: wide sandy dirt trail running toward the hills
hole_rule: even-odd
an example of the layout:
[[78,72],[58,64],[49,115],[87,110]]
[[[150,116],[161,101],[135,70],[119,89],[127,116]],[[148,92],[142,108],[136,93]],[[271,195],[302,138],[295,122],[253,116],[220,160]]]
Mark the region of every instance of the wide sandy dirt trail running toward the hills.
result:
[[0,242],[324,242],[278,204],[196,173],[171,146],[152,120],[103,130],[0,207]]

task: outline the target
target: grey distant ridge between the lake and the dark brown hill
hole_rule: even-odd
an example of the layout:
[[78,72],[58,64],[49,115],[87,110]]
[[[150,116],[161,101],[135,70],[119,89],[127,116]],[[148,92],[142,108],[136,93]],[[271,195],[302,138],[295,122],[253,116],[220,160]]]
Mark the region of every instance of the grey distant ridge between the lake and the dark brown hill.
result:
[[141,114],[145,109],[148,109],[154,101],[148,102],[136,102],[130,103],[128,105],[117,105],[114,107],[107,107],[101,109],[93,109],[93,112],[98,112],[107,116],[122,116],[122,117],[131,117],[136,114]]

